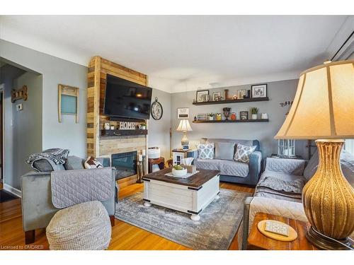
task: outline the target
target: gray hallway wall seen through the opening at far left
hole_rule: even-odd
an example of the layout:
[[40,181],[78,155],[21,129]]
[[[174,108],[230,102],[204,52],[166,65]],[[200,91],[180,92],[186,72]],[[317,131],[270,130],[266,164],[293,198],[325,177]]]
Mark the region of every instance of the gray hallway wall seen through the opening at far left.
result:
[[[32,153],[42,151],[42,75],[27,72],[13,81],[13,88],[23,86],[28,88],[28,100],[17,100],[10,106],[13,114],[13,160],[6,160],[5,165],[6,168],[12,167],[11,177],[6,175],[6,184],[16,189],[21,189],[21,176],[31,170],[24,163],[25,159]],[[23,110],[16,110],[18,104],[23,105]]]

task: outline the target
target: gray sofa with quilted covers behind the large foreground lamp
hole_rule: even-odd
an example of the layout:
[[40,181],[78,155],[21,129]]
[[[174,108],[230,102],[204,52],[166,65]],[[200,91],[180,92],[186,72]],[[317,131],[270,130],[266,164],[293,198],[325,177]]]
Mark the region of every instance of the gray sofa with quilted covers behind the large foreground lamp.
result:
[[[307,165],[304,160],[266,158],[265,170],[259,179],[256,190],[252,197],[246,198],[244,203],[243,238],[239,238],[239,242],[242,242],[242,246],[240,246],[242,249],[246,249],[247,237],[256,213],[269,213],[275,216],[307,221],[302,206],[301,192],[304,184],[316,172],[318,165],[319,155],[317,152],[312,155]],[[346,151],[341,153],[341,169],[350,185],[354,187],[354,156]],[[299,194],[264,189],[262,183],[268,177],[274,177],[275,184],[279,184],[280,189],[286,189],[282,185],[288,182],[292,187],[299,189]],[[239,235],[241,236],[241,233]],[[354,232],[352,237],[354,238]]]

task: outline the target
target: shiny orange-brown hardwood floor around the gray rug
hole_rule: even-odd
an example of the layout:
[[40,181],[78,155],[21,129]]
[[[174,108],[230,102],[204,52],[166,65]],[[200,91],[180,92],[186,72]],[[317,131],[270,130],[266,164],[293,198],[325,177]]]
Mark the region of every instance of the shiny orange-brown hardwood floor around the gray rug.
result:
[[[238,184],[221,182],[220,187],[234,189],[239,192],[253,193],[254,189]],[[0,183],[0,189],[2,184]],[[123,187],[119,192],[120,199],[142,192],[142,184],[132,184]],[[238,233],[236,233],[229,249],[238,249]],[[25,245],[25,233],[22,230],[21,199],[0,203],[0,249],[48,249],[45,229],[35,231],[35,243]],[[115,219],[112,230],[112,240],[109,249],[120,250],[173,250],[188,249],[164,237],[137,228],[134,225]]]

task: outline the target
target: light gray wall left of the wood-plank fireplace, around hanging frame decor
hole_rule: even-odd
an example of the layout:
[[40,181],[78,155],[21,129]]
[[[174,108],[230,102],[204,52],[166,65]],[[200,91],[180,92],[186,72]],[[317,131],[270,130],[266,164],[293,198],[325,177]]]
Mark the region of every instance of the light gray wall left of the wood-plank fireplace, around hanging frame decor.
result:
[[[86,156],[87,67],[0,40],[0,57],[42,74],[42,148],[68,148]],[[73,115],[58,122],[58,84],[80,88],[79,123]]]

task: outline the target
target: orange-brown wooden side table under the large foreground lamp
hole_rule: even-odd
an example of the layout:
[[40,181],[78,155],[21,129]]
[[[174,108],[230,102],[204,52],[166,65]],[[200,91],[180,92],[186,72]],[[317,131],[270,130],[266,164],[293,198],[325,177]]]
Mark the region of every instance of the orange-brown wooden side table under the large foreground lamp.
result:
[[[257,224],[261,220],[278,220],[282,223],[287,223],[297,232],[297,239],[292,242],[282,242],[272,240],[266,237],[257,228]],[[251,232],[247,240],[247,249],[249,250],[316,250],[317,247],[312,245],[306,238],[309,223],[300,220],[293,220],[282,216],[273,216],[268,213],[256,213],[253,220]]]

